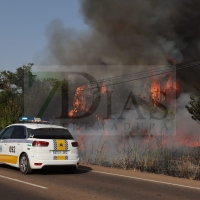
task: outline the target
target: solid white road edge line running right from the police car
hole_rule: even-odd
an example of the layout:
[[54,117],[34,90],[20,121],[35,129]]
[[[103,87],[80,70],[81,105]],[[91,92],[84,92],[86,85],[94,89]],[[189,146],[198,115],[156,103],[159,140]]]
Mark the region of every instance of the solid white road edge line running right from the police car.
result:
[[86,169],[82,169],[82,168],[78,168],[78,169],[89,171],[89,172],[100,173],[100,174],[107,174],[107,175],[111,175],[111,176],[119,176],[119,177],[131,178],[131,179],[136,179],[136,180],[141,180],[141,181],[148,181],[148,182],[153,182],[153,183],[161,183],[161,184],[165,184],[165,185],[172,185],[172,186],[179,186],[179,187],[184,187],[184,188],[189,188],[189,189],[200,190],[200,187],[192,187],[192,186],[187,186],[187,185],[155,181],[155,180],[151,180],[151,179],[138,178],[138,177],[133,177],[133,176],[125,176],[125,175],[120,175],[120,174],[112,174],[112,173],[108,173],[108,172],[100,172],[100,171],[95,171],[95,170],[86,170]]

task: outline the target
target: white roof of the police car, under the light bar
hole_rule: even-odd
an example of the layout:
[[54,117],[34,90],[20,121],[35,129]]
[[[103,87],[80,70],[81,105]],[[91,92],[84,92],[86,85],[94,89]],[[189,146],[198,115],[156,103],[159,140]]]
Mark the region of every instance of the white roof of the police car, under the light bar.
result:
[[9,126],[26,126],[27,128],[30,128],[30,129],[38,129],[38,128],[67,129],[67,128],[63,127],[63,126],[57,126],[57,125],[53,125],[53,124],[41,124],[41,123],[17,123],[17,124],[11,124]]

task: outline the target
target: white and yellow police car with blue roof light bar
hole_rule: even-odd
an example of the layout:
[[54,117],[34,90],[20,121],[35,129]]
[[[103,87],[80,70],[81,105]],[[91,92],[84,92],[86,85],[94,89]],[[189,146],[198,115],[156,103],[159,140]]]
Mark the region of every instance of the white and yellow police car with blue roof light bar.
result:
[[0,133],[0,163],[18,167],[23,174],[45,167],[74,173],[79,165],[78,143],[67,128],[22,117]]

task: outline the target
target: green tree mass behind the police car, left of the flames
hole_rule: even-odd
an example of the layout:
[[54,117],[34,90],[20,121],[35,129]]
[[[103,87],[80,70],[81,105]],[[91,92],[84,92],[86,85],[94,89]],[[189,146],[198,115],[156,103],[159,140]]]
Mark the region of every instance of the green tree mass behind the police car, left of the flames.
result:
[[39,79],[32,73],[32,66],[33,63],[29,63],[15,72],[0,72],[0,131],[18,122],[22,115],[55,117],[60,114],[61,91],[58,88],[68,95],[68,80]]

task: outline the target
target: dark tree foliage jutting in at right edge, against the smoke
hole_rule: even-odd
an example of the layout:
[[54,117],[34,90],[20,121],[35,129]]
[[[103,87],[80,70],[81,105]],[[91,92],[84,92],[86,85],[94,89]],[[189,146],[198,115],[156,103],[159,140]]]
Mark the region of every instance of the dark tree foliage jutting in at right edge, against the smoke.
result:
[[200,122],[200,87],[196,86],[196,89],[196,95],[190,96],[189,105],[186,108],[192,115],[192,119]]

